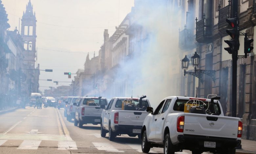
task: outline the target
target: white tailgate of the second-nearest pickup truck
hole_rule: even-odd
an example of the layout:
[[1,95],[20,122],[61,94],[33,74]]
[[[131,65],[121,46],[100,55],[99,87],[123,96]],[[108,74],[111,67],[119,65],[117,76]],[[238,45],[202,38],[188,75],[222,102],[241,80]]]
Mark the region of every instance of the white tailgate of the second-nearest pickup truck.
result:
[[119,125],[143,125],[144,119],[148,115],[146,111],[118,111],[118,124]]

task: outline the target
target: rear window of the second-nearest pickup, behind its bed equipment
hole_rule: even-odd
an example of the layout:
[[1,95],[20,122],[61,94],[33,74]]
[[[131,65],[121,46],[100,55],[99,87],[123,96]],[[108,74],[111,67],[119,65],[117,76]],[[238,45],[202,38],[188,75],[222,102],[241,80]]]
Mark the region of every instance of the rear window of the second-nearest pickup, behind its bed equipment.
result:
[[[148,105],[148,102],[147,101],[143,101],[142,100],[142,104],[141,104],[141,108],[139,107],[139,100],[138,99],[129,99],[130,100],[130,105],[129,106],[126,106],[124,108],[124,106],[122,106],[123,102],[127,102],[126,99],[118,99],[117,102],[116,102],[116,105],[115,107],[116,108],[124,108],[124,110],[132,110],[132,111],[144,111],[147,109],[147,107],[149,106]],[[132,101],[131,101],[132,100]]]

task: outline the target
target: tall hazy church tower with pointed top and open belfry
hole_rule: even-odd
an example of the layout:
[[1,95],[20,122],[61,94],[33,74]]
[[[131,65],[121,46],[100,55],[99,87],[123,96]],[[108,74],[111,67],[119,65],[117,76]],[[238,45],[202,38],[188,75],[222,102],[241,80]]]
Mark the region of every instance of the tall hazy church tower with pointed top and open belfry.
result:
[[24,41],[24,49],[26,50],[24,54],[25,65],[28,65],[30,68],[35,68],[36,18],[30,0],[26,7],[26,12],[23,11],[21,19],[21,36]]

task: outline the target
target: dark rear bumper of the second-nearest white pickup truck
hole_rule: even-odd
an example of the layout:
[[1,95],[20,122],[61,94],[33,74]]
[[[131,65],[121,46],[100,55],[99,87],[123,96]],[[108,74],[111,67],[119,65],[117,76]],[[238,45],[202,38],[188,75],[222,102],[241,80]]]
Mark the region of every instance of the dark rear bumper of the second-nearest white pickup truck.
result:
[[[117,134],[134,134],[139,135],[141,134],[142,126],[139,125],[115,125],[115,132]],[[140,129],[140,132],[133,133],[133,129]]]

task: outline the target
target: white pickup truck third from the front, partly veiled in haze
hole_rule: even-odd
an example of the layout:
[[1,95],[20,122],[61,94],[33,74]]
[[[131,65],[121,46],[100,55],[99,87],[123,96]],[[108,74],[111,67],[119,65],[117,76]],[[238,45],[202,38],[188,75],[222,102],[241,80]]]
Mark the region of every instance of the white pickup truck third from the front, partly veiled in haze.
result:
[[83,124],[100,124],[102,110],[108,105],[106,98],[83,97],[79,103],[73,103],[75,108],[74,125],[82,128]]

